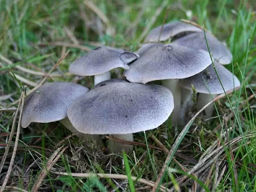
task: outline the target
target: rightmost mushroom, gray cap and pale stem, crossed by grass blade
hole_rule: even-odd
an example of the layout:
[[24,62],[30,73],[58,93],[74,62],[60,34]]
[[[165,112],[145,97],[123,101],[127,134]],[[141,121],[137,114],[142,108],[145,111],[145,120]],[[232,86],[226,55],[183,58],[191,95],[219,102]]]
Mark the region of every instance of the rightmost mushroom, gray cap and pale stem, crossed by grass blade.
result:
[[[235,75],[233,75],[230,71],[228,71],[228,69],[226,69],[216,61],[214,62],[214,66],[220,77],[220,81],[225,91],[228,91],[240,86],[240,81],[237,79]],[[215,98],[217,94],[221,94],[224,92],[223,88],[221,87],[220,81],[214,70],[213,65],[210,65],[199,74],[188,77],[186,79],[181,79],[180,86],[191,91],[192,91],[191,84],[194,86],[195,91],[199,93],[197,97],[197,103],[196,103],[196,108],[199,110],[203,108],[204,105],[206,105],[209,101],[211,101],[212,98]],[[182,107],[190,108],[189,106],[186,106],[186,105],[189,105],[189,102],[191,107],[193,103],[191,103],[191,101],[189,100],[187,100],[187,102],[184,102]],[[210,118],[212,116],[213,109],[214,109],[214,104],[206,108],[204,110],[205,115],[203,116],[203,119]]]

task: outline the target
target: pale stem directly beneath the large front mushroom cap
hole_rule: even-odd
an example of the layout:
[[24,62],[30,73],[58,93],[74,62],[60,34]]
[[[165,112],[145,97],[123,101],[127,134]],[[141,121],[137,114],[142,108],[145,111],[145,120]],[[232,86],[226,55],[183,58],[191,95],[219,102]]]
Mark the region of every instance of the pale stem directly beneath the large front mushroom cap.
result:
[[[133,141],[133,135],[131,134],[113,134],[109,135],[112,138],[121,139],[125,141]],[[117,143],[113,140],[108,140],[108,151],[111,153],[122,153],[124,150],[126,153],[131,152],[133,149],[132,145],[127,145],[123,143]]]

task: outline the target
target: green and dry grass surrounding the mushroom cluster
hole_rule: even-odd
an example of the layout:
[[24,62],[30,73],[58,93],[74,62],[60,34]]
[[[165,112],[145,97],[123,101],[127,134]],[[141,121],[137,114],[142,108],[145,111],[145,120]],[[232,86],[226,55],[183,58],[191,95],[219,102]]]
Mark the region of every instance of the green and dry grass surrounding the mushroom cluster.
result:
[[[20,85],[27,85],[27,91],[33,89],[70,50],[46,81],[73,81],[92,87],[91,77],[77,79],[68,74],[72,61],[98,45],[136,51],[142,43],[141,34],[161,25],[165,15],[167,22],[179,19],[196,21],[225,41],[233,54],[232,63],[225,67],[238,76],[242,86],[228,94],[228,99],[223,96],[216,102],[220,118],[215,116],[209,123],[201,121],[199,115],[184,129],[172,129],[166,122],[145,135],[134,134],[135,141],[145,143],[146,147],[136,146],[134,153],[127,156],[110,157],[101,150],[90,152],[76,137],[65,140],[63,145],[67,148],[60,153],[62,149],[55,146],[70,132],[58,122],[31,124],[29,128],[21,129],[7,188],[30,191],[41,179],[39,190],[45,191],[150,191],[152,182],[160,179],[158,175],[166,165],[167,152],[172,149],[172,158],[166,171],[162,172],[158,191],[165,188],[188,190],[189,186],[196,191],[202,187],[205,191],[255,191],[254,1],[92,2],[0,1],[0,146],[5,146],[6,133],[11,131],[15,113],[12,108],[17,107],[12,103],[20,98]],[[188,14],[189,10],[192,16]],[[1,111],[3,108],[11,109]],[[15,122],[17,127],[18,119]],[[216,129],[217,132],[212,132]],[[164,147],[157,144],[151,135]],[[11,161],[14,138],[0,173],[1,184]],[[161,150],[150,146],[158,146]],[[55,154],[56,151],[59,154]],[[211,152],[212,156],[209,156]],[[4,149],[0,149],[0,159],[3,154]],[[211,162],[215,157],[215,163]],[[193,162],[199,159],[205,162],[201,161],[196,169]],[[49,164],[52,165],[51,171],[45,166]],[[207,165],[205,169],[202,168],[204,165]],[[191,168],[195,168],[194,174],[189,173]],[[60,175],[56,172],[81,175]],[[90,176],[89,172],[100,173],[101,176]],[[180,178],[184,176],[192,180],[182,181]]]

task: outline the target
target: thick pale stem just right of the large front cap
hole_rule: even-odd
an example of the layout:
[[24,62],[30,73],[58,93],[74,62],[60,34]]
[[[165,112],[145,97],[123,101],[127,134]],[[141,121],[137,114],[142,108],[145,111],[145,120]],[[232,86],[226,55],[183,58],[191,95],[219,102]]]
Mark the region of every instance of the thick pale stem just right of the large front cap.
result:
[[165,79],[162,85],[168,88],[173,95],[174,109],[172,111],[172,125],[175,126],[180,121],[181,110],[181,88],[179,86],[179,79]]

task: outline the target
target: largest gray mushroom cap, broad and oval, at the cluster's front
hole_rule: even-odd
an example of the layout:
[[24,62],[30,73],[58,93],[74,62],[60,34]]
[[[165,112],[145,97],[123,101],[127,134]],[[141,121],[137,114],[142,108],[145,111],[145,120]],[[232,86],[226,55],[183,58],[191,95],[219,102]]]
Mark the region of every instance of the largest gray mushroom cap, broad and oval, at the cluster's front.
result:
[[73,102],[68,118],[82,133],[129,134],[157,128],[172,110],[173,97],[167,88],[111,79]]

